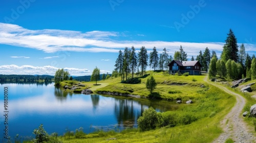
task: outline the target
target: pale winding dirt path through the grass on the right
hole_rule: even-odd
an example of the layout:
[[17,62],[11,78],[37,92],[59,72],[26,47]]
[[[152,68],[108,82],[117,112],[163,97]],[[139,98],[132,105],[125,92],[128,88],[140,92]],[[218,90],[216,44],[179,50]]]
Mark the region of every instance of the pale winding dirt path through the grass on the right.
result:
[[242,110],[246,100],[239,94],[228,90],[226,87],[210,83],[207,81],[207,77],[204,81],[232,94],[237,100],[237,103],[220,123],[224,132],[213,142],[225,142],[228,138],[231,138],[234,142],[256,142],[256,137],[253,133],[248,132],[248,129],[243,122]]

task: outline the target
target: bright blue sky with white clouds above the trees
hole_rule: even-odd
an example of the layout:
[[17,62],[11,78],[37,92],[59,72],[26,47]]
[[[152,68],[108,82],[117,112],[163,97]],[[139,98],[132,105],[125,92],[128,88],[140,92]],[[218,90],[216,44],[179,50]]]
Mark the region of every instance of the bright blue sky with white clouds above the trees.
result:
[[[256,52],[255,1],[3,1],[0,74],[49,74],[65,68],[90,75],[112,72],[118,51],[154,46],[196,57],[208,47],[220,56],[231,28],[238,45]],[[149,68],[148,68],[149,69]]]

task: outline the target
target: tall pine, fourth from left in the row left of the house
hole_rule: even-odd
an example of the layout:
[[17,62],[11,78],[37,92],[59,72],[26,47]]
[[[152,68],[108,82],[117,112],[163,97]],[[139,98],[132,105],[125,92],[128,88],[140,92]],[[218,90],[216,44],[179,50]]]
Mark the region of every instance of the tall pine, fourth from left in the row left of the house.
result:
[[141,66],[141,76],[143,76],[143,71],[146,69],[148,55],[145,46],[142,46],[139,52],[139,66]]

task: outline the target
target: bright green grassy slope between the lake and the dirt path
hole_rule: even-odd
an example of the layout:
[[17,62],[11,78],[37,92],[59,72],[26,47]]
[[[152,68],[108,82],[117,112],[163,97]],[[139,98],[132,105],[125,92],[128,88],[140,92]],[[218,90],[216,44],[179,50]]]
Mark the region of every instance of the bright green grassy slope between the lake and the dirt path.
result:
[[[121,78],[113,78],[95,82],[82,82],[85,88],[95,92],[119,92],[139,95],[141,97],[158,97],[163,100],[182,99],[182,104],[177,104],[176,111],[167,111],[162,114],[172,114],[184,120],[175,127],[166,126],[151,131],[141,132],[139,129],[127,129],[121,132],[97,131],[91,134],[80,134],[61,136],[63,142],[211,142],[222,132],[219,122],[231,109],[234,97],[218,88],[204,82],[206,76],[176,76],[164,75],[153,71],[147,71],[158,83],[153,95],[145,88],[147,77],[137,77],[141,80],[139,84],[120,83]],[[201,87],[203,85],[203,87]],[[187,100],[193,100],[193,104],[185,104]],[[143,100],[143,99],[136,99]],[[186,116],[187,115],[187,116]],[[196,121],[191,124],[184,124],[191,115]],[[116,138],[114,140],[108,140]]]

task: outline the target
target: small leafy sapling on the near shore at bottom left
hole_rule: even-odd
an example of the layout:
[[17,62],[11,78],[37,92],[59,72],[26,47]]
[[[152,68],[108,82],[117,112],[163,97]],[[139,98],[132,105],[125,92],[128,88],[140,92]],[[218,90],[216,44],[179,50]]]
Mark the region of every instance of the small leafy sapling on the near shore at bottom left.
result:
[[35,138],[33,139],[33,142],[39,143],[39,142],[47,142],[49,141],[49,135],[45,131],[43,125],[41,124],[38,129],[34,129],[33,134],[35,134]]

